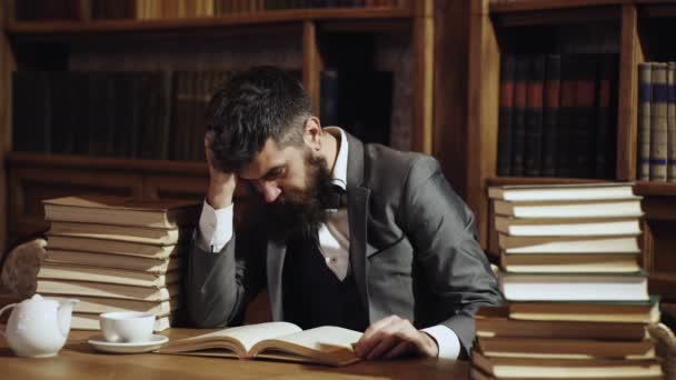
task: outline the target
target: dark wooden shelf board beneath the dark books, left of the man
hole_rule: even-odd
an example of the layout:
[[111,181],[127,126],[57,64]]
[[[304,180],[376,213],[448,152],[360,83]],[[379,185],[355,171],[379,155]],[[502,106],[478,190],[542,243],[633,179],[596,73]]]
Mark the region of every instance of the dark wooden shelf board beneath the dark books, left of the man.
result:
[[129,170],[167,174],[209,176],[209,169],[206,162],[138,160],[113,157],[41,154],[30,152],[10,152],[7,162],[10,167],[22,168]]

